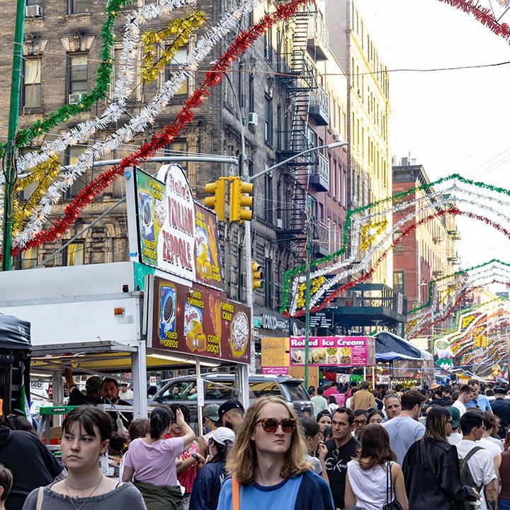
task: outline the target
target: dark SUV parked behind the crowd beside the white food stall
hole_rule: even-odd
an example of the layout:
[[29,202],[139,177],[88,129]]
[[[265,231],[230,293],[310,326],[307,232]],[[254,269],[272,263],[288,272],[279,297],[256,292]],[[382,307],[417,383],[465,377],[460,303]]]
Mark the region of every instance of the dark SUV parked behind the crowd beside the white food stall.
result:
[[[204,381],[204,404],[221,405],[226,400],[238,399],[239,391],[232,374],[210,373],[202,375]],[[278,395],[293,406],[295,412],[312,416],[312,402],[302,380],[288,375],[249,375],[250,403],[259,397]],[[191,413],[191,420],[197,419],[196,377],[186,375],[170,380],[162,387],[152,400],[152,404],[183,404]]]

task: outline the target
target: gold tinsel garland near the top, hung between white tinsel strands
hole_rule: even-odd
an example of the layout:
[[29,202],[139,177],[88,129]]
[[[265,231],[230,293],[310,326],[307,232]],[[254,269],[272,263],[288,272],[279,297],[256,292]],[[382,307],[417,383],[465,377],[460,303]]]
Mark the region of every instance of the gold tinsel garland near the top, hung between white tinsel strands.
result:
[[[164,69],[166,64],[171,62],[177,50],[188,42],[188,38],[197,28],[200,28],[205,21],[203,12],[194,12],[187,18],[176,18],[172,20],[166,28],[154,32],[149,30],[142,34],[142,65],[140,67],[140,76],[145,83],[150,83],[157,78],[159,72]],[[157,45],[171,35],[176,35],[174,42],[166,47],[159,59],[154,62],[157,54]]]

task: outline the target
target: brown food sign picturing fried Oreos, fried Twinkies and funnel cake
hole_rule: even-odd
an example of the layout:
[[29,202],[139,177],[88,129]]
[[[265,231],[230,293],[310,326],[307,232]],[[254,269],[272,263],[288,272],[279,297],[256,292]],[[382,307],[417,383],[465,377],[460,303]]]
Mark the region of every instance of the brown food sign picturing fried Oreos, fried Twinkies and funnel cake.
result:
[[248,307],[198,283],[187,286],[157,276],[151,278],[149,346],[224,361],[250,362]]

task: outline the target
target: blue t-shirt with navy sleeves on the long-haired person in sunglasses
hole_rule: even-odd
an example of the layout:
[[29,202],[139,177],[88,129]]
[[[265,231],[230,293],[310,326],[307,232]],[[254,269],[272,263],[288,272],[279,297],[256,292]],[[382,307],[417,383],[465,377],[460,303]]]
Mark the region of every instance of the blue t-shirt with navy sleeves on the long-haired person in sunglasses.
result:
[[[324,484],[322,483],[324,482]],[[311,471],[287,478],[277,485],[239,485],[242,510],[333,510],[327,483]],[[232,478],[225,480],[217,510],[232,510]]]

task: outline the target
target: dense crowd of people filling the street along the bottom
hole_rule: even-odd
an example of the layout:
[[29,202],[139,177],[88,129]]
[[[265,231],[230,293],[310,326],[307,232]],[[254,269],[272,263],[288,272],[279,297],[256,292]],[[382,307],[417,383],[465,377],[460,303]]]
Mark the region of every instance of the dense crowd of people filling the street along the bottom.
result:
[[[313,416],[280,397],[246,412],[228,400],[203,408],[199,437],[177,403],[153,407],[123,435],[94,405],[101,387],[86,387],[88,402],[65,417],[60,460],[23,416],[0,418],[0,510],[510,509],[501,385],[328,383],[310,387]],[[100,470],[112,449],[122,453],[116,480]]]

